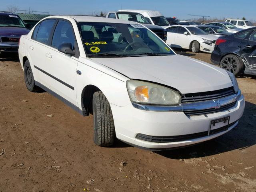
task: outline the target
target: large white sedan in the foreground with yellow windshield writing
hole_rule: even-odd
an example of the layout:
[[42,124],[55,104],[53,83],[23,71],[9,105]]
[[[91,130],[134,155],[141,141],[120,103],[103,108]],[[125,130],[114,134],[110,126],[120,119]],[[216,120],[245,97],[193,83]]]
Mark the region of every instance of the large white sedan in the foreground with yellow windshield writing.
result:
[[232,73],[176,55],[132,21],[50,16],[21,37],[19,58],[30,92],[93,115],[94,135],[83,138],[98,146],[188,146],[232,130],[244,112]]

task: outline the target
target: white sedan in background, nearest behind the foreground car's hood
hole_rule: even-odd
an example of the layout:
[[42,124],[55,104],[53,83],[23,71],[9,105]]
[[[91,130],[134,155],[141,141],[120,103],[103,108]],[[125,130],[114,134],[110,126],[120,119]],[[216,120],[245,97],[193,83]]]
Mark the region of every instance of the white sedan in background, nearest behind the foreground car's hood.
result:
[[192,50],[194,53],[199,51],[211,53],[214,50],[215,42],[218,37],[207,34],[198,27],[189,25],[174,25],[166,27],[167,41],[171,47]]

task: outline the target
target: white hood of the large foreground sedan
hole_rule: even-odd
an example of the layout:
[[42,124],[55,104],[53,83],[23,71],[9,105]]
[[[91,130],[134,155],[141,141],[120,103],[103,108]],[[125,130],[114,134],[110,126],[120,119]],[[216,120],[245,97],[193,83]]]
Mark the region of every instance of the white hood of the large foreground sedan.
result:
[[182,94],[228,88],[232,82],[222,68],[182,55],[91,58],[130,79],[178,89]]

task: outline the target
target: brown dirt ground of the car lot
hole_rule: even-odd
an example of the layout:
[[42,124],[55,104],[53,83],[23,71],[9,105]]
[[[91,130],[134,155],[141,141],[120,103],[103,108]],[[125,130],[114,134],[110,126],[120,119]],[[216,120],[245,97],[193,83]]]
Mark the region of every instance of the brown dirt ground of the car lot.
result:
[[[210,62],[210,54],[184,54]],[[244,116],[232,131],[178,150],[94,145],[92,116],[26,89],[17,56],[0,58],[0,192],[255,192],[256,78],[238,79]]]

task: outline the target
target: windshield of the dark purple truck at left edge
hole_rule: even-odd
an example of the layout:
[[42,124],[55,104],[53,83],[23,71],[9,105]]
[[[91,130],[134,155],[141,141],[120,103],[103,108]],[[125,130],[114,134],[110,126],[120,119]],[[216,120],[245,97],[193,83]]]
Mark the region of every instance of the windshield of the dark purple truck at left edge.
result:
[[0,15],[0,26],[25,27],[22,20],[16,15]]

